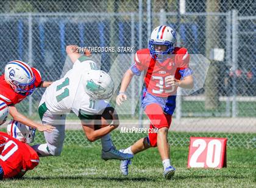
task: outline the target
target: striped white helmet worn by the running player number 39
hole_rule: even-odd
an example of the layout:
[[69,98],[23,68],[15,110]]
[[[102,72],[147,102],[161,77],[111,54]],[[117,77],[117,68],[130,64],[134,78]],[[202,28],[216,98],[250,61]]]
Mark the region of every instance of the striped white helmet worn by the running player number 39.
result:
[[[158,62],[163,62],[169,58],[176,46],[176,32],[169,26],[160,25],[156,27],[149,40],[149,52],[151,57]],[[163,47],[166,46],[166,47]]]

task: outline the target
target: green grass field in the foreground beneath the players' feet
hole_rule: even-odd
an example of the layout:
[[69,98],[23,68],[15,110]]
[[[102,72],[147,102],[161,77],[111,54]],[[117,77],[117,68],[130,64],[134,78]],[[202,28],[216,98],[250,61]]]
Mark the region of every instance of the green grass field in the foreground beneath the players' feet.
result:
[[227,149],[227,168],[187,169],[188,148],[171,147],[176,174],[162,176],[157,149],[135,156],[130,174],[119,172],[119,161],[103,161],[101,148],[65,146],[62,156],[41,158],[21,180],[0,187],[256,187],[256,149]]

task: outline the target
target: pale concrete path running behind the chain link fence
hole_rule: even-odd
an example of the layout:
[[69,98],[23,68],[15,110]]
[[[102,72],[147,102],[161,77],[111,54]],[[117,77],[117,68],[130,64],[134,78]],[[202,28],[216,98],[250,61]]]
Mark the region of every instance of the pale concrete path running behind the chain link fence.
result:
[[[39,123],[39,121],[38,121]],[[143,120],[143,126],[140,126],[138,119],[121,119],[120,126],[127,128],[148,128],[150,121]],[[7,127],[7,123],[2,128]],[[66,120],[65,130],[82,130],[80,121]],[[181,118],[172,119],[172,124],[169,129],[174,132],[216,132],[216,133],[256,133],[256,118],[239,117],[239,118]]]

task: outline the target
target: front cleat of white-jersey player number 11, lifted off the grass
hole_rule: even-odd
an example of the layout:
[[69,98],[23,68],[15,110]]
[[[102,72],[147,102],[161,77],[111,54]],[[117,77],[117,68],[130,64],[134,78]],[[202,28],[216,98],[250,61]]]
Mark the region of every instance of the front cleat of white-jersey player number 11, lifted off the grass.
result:
[[101,158],[104,159],[105,161],[109,159],[118,159],[118,160],[127,160],[127,159],[132,159],[133,155],[129,153],[122,153],[116,150],[116,148],[113,146],[110,150],[105,152],[102,150],[101,153]]

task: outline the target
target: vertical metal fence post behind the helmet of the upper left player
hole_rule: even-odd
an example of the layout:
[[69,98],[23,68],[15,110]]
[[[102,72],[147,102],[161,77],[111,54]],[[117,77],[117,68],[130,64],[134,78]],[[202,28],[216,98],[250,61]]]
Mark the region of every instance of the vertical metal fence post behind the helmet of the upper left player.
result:
[[[28,21],[29,21],[29,65],[30,67],[32,67],[33,65],[33,48],[32,48],[32,15],[31,13],[29,13],[29,16],[28,16]],[[30,95],[29,96],[29,116],[32,116],[32,102],[33,102],[33,98],[32,96]]]

